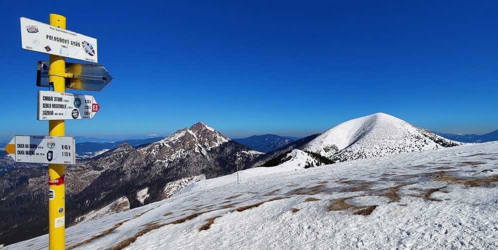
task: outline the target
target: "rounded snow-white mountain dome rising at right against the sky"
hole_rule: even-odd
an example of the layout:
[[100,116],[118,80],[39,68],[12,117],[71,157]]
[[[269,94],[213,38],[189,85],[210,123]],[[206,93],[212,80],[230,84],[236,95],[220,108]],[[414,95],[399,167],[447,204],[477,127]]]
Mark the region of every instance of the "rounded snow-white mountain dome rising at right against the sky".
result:
[[303,147],[336,161],[460,145],[385,113],[342,122]]

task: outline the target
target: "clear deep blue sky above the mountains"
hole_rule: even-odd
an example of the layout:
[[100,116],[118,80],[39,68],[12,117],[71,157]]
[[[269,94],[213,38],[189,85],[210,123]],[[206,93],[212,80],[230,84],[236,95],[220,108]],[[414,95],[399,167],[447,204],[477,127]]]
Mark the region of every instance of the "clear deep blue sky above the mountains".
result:
[[[9,1],[0,17],[0,139],[48,133],[20,17],[98,40],[114,77],[67,136],[306,136],[385,112],[451,133],[498,129],[498,1]],[[8,10],[8,11],[6,11]],[[87,63],[67,59],[71,62]]]

